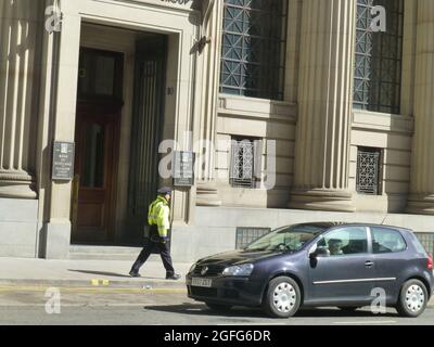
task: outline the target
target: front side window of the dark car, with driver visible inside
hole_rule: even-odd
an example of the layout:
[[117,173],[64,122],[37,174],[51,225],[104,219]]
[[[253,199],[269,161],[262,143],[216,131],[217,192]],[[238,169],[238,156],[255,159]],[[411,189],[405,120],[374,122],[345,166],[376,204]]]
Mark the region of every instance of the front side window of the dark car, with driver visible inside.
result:
[[331,257],[367,253],[367,230],[363,227],[333,230],[318,241],[317,247],[326,248]]

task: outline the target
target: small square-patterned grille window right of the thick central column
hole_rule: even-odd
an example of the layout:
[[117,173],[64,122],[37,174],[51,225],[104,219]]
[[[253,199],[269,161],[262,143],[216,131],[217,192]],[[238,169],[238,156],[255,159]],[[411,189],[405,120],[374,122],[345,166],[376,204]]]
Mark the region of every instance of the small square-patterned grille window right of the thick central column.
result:
[[381,195],[381,150],[359,147],[357,153],[358,193]]

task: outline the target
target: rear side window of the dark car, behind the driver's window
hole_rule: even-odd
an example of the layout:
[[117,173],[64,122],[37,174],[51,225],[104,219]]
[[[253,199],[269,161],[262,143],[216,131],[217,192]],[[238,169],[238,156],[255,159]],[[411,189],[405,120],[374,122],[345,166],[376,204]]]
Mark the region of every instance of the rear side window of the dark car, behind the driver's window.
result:
[[403,235],[393,229],[371,228],[372,250],[374,254],[401,252],[407,248]]

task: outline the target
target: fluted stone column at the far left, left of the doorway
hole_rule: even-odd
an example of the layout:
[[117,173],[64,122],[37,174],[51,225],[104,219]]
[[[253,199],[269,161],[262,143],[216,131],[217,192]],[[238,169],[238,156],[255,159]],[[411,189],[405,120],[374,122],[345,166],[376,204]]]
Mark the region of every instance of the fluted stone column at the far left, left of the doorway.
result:
[[0,197],[36,198],[43,1],[0,2]]

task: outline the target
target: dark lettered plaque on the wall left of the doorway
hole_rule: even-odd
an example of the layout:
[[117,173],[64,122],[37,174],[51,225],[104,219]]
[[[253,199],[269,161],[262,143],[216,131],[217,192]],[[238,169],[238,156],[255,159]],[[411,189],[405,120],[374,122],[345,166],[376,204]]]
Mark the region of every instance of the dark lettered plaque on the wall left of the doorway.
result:
[[52,180],[71,181],[74,177],[74,149],[73,142],[55,141],[53,145]]

